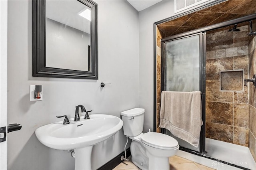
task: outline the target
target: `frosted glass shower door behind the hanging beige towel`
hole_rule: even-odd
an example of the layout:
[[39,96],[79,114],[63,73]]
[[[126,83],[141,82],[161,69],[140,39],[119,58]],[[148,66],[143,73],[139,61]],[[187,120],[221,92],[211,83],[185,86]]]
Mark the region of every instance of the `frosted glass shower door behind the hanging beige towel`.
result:
[[[180,38],[170,37],[169,40],[162,42],[162,47],[164,47],[162,49],[162,90],[204,92],[202,43],[202,33]],[[203,152],[202,148],[200,149],[203,141],[200,141],[198,148],[196,148],[172,135],[170,131],[164,131],[174,137],[181,147]],[[202,135],[200,135],[200,140],[201,138],[203,138]]]

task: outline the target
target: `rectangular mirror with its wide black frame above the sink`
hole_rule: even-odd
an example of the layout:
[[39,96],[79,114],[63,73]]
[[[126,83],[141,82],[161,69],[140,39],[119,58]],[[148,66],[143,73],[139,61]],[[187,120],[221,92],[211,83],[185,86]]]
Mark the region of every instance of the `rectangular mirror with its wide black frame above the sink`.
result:
[[32,1],[32,76],[98,79],[98,4]]

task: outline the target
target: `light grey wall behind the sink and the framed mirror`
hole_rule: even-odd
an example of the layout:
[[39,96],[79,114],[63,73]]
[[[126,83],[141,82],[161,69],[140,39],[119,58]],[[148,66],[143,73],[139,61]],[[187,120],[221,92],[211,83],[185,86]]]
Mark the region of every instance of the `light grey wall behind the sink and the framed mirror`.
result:
[[[32,2],[8,1],[8,124],[22,125],[8,134],[9,170],[74,169],[70,153],[44,146],[34,131],[60,121],[56,116],[74,117],[78,104],[92,109],[92,114],[118,117],[121,111],[139,107],[138,12],[127,1],[96,2],[99,79],[84,80],[32,77]],[[112,85],[102,89],[101,82]],[[30,101],[30,84],[43,85],[43,101]],[[120,130],[96,145],[92,168],[120,154],[125,142]]]

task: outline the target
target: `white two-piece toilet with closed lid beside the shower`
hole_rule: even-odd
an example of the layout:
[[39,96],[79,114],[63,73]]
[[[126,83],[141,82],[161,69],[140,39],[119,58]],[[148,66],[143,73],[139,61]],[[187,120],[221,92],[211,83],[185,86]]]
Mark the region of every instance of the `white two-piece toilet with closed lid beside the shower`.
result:
[[170,170],[169,157],[179,149],[177,140],[157,132],[142,133],[145,109],[121,112],[124,135],[132,139],[132,162],[142,170]]

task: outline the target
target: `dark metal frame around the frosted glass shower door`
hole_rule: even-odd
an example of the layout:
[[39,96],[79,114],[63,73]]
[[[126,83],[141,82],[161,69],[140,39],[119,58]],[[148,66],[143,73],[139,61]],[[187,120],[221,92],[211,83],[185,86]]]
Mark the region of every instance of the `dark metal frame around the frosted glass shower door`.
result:
[[[161,40],[161,92],[166,90],[166,53],[164,51],[164,43],[180,40],[183,38],[188,38],[192,36],[199,35],[199,76],[200,76],[200,91],[201,91],[201,104],[202,104],[202,121],[203,125],[201,126],[200,139],[199,139],[199,152],[196,150],[191,150],[180,146],[180,150],[187,152],[197,152],[198,154],[205,154],[205,89],[206,89],[206,34],[205,32],[199,32],[196,34],[178,34],[175,36],[170,36]],[[161,128],[161,132],[166,134],[166,129]]]

